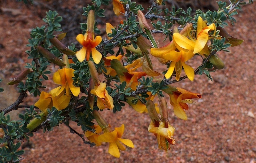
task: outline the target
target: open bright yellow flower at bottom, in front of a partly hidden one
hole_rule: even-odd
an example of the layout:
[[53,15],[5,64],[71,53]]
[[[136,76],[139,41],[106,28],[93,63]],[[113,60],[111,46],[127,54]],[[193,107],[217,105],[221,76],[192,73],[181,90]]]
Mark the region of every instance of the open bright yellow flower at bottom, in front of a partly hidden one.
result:
[[115,131],[113,132],[105,132],[104,134],[100,135],[98,137],[98,141],[100,142],[108,142],[109,148],[108,153],[112,156],[119,158],[120,152],[125,150],[125,147],[121,144],[121,142],[128,147],[133,148],[134,145],[131,140],[129,139],[122,139],[122,135],[124,133],[124,124],[122,124],[121,127],[115,128]]

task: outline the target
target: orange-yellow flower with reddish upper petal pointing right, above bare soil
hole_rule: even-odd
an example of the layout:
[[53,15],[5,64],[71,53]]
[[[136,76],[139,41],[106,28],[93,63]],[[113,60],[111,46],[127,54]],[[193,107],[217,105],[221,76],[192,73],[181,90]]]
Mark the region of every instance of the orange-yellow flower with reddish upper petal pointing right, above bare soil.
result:
[[173,106],[174,114],[180,119],[187,120],[188,117],[184,110],[188,110],[188,104],[192,103],[191,98],[202,98],[201,94],[192,93],[182,88],[177,88],[177,91],[173,91],[173,94],[169,94],[170,103]]

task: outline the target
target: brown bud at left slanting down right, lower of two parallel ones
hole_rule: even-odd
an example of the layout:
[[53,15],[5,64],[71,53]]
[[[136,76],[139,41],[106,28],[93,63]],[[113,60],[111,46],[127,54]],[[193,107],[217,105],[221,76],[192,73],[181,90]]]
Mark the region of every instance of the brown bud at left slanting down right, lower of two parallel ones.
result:
[[54,54],[52,54],[47,49],[43,48],[42,46],[37,46],[36,49],[49,61],[52,63],[58,65],[58,66],[66,66],[65,63],[62,62],[62,60],[58,57],[56,57]]

